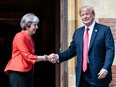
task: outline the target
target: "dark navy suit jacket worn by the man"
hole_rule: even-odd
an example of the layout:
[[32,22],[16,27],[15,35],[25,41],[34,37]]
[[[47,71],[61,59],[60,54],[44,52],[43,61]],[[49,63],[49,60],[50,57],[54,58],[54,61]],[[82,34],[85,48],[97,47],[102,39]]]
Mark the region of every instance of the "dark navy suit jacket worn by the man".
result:
[[[84,26],[76,29],[69,48],[59,53],[59,63],[77,56],[76,87],[79,85],[82,73],[82,53]],[[111,66],[114,59],[115,47],[111,30],[108,26],[95,23],[89,44],[89,66],[91,76],[96,86],[109,84],[112,80]],[[104,68],[108,75],[104,79],[98,79],[99,71]]]

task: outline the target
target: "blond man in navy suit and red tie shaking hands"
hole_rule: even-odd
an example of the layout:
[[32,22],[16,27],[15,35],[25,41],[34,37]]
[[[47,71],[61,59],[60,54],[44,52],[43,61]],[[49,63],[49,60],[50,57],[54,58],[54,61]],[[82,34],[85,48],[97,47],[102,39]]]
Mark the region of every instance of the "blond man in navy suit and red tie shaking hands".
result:
[[[76,87],[109,87],[112,80],[111,66],[114,59],[115,47],[111,30],[108,26],[95,21],[92,7],[80,8],[80,17],[84,26],[75,30],[69,48],[58,54],[51,54],[52,63],[63,62],[77,55]],[[86,36],[86,28],[88,36]],[[88,37],[87,48],[84,38]],[[87,66],[83,64],[86,50]],[[85,70],[83,67],[86,66]]]

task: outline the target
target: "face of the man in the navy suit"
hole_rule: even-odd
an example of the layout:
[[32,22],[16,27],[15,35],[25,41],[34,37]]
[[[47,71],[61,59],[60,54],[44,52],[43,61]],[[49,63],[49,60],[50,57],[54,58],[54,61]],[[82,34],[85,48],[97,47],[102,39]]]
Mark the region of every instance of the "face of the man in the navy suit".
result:
[[92,11],[90,9],[83,9],[80,13],[80,17],[82,19],[82,22],[89,27],[92,22],[94,21],[94,15],[92,14]]

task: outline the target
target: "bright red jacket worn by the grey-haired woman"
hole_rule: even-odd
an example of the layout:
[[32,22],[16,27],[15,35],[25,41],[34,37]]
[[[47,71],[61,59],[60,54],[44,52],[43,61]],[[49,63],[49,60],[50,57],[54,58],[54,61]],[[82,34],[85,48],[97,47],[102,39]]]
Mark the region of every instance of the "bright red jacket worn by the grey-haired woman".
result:
[[9,70],[27,72],[32,69],[37,55],[34,55],[34,44],[31,37],[23,30],[17,33],[12,43],[12,57],[5,67],[4,72]]

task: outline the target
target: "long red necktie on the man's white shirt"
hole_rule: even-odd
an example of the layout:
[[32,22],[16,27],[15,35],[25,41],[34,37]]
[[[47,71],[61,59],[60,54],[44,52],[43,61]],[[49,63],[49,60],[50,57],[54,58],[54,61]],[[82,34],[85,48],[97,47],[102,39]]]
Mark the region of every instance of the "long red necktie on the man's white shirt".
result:
[[87,62],[88,62],[88,42],[89,42],[89,28],[86,28],[84,42],[83,42],[83,72],[87,69]]

